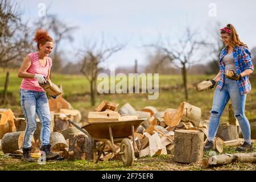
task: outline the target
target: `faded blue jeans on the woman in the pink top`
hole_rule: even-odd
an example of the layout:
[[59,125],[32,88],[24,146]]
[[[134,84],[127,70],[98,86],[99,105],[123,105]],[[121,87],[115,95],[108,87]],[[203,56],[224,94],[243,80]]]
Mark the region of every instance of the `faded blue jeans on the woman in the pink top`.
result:
[[36,113],[41,123],[41,146],[49,144],[51,135],[51,114],[46,93],[20,89],[20,104],[27,126],[23,138],[23,148],[32,146],[31,140],[36,130]]

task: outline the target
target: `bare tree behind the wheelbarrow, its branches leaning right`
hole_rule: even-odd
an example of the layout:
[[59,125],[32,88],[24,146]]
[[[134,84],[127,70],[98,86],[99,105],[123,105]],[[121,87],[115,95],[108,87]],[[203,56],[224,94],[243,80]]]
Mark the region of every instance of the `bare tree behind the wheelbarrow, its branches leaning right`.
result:
[[97,75],[101,71],[100,64],[104,63],[113,55],[120,51],[125,45],[118,46],[106,46],[104,38],[102,37],[101,46],[97,46],[97,42],[93,43],[93,46],[86,46],[84,52],[84,58],[81,60],[81,73],[86,77],[90,83],[90,102],[94,106],[96,102],[97,94]]

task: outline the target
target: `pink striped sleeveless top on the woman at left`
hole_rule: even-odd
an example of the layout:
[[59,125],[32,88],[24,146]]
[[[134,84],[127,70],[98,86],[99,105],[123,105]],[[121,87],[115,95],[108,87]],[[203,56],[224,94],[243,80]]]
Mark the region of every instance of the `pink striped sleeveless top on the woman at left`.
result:
[[[31,52],[27,55],[30,57],[31,65],[28,68],[28,73],[33,74],[40,74],[47,77],[49,68],[52,67],[52,59],[51,57],[47,57],[46,59],[46,66],[42,67],[39,63],[39,53],[38,52]],[[24,90],[32,90],[37,92],[44,92],[43,88],[39,85],[38,80],[36,78],[23,78],[20,89]]]

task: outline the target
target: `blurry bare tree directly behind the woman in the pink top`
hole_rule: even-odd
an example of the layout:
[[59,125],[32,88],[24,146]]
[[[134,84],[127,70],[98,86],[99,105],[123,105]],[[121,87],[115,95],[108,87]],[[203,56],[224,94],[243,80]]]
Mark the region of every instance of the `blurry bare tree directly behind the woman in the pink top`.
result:
[[70,42],[73,41],[72,32],[76,30],[75,26],[68,26],[60,19],[57,18],[56,15],[47,15],[43,18],[40,18],[36,23],[36,28],[44,28],[53,33],[54,38],[54,51],[53,57],[54,64],[52,65],[52,70],[55,72],[60,72],[63,67],[62,58],[61,58],[61,50],[60,43],[63,40],[68,40]]

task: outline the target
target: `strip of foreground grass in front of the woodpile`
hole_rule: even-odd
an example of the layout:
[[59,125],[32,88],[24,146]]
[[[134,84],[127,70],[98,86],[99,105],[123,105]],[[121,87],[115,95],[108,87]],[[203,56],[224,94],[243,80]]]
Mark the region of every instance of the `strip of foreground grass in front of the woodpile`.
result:
[[[236,146],[225,147],[224,154],[233,154],[236,153]],[[256,144],[254,144],[254,150],[256,149]],[[219,154],[217,152],[217,154]],[[204,158],[209,157],[209,152],[204,152]],[[120,160],[110,160],[107,162],[98,162],[97,164],[88,160],[75,160],[75,161],[48,161],[46,164],[38,164],[23,162],[20,159],[9,158],[3,155],[3,152],[0,152],[0,170],[32,170],[32,171],[48,171],[48,170],[57,170],[57,171],[86,171],[86,170],[134,170],[134,171],[144,171],[144,170],[160,170],[160,171],[177,171],[177,170],[189,170],[189,171],[201,171],[201,170],[211,170],[211,171],[220,171],[220,170],[255,170],[255,163],[232,163],[224,166],[209,167],[203,168],[200,163],[177,163],[174,160],[173,154],[168,155],[159,155],[159,156],[146,156],[143,158],[137,158],[134,160],[134,164],[131,167],[123,166]]]

